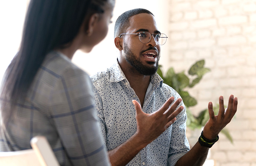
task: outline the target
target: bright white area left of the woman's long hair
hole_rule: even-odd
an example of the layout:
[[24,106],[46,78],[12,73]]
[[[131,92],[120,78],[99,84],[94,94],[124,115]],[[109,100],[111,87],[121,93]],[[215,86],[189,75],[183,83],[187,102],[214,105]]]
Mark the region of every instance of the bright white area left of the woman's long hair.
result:
[[0,1],[0,81],[20,46],[27,1]]

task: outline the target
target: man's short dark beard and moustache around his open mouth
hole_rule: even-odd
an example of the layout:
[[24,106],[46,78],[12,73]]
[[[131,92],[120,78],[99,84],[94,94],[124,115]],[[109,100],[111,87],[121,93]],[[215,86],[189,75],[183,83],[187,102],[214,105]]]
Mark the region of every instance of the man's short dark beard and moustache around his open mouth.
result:
[[[150,49],[154,49],[156,50],[155,47],[150,47],[147,50]],[[143,52],[147,51],[147,50],[143,50],[140,52],[140,55],[142,55]],[[147,62],[147,64],[150,64],[151,66],[147,66],[142,64],[142,62],[140,61],[139,58],[136,58],[136,56],[133,54],[132,50],[130,48],[128,48],[128,45],[124,42],[124,53],[125,53],[125,60],[131,64],[131,66],[137,70],[140,74],[145,75],[145,76],[151,76],[153,74],[156,73],[157,69],[158,69],[158,61],[159,58],[156,61],[156,66],[154,66],[153,64],[155,62]],[[157,57],[159,57],[160,54],[158,53]]]

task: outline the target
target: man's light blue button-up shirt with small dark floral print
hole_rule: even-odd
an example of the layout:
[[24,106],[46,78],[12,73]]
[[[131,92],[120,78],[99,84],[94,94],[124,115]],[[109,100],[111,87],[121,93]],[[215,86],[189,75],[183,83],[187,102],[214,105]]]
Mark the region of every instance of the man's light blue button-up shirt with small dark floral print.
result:
[[[136,114],[132,100],[139,102],[139,98],[117,61],[106,71],[91,76],[91,79],[101,132],[107,149],[111,150],[136,132]],[[142,107],[143,112],[148,114],[155,112],[171,96],[174,96],[175,100],[180,98],[172,87],[163,83],[163,79],[158,74],[152,75]],[[184,106],[183,102],[181,104]],[[185,135],[186,120],[186,109],[183,109],[175,123],[143,148],[127,166],[175,165],[178,159],[189,151],[189,143]]]

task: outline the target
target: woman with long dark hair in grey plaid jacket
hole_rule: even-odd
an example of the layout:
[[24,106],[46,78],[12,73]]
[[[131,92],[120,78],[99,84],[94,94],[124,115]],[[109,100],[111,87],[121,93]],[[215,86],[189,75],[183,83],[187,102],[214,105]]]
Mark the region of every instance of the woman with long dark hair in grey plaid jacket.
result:
[[115,0],[31,0],[1,87],[0,151],[44,135],[60,165],[109,165],[88,75],[71,63],[107,34]]

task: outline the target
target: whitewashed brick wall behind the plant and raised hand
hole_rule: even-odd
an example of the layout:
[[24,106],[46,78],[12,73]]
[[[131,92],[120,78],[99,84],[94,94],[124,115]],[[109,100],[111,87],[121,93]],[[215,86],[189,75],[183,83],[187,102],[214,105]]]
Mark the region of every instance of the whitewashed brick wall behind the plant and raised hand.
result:
[[188,71],[205,59],[211,69],[189,90],[198,99],[194,114],[218,103],[220,95],[238,97],[224,135],[211,149],[216,166],[256,166],[256,0],[169,0],[169,66]]

